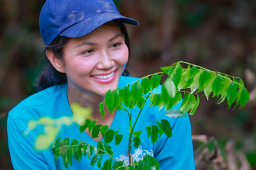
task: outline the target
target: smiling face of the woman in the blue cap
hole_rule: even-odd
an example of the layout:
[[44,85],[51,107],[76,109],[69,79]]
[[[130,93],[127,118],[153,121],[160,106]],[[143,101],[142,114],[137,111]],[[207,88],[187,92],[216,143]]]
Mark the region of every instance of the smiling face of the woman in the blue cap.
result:
[[116,89],[129,50],[119,26],[107,24],[80,38],[71,38],[63,48],[63,71],[68,86],[105,95]]

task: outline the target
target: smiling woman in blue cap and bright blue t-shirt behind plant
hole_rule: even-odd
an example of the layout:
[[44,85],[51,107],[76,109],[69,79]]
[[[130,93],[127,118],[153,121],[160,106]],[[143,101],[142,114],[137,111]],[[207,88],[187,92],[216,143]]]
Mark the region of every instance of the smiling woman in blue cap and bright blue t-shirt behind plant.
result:
[[[14,169],[65,169],[61,159],[53,159],[51,149],[34,149],[42,127],[24,135],[28,120],[72,116],[72,103],[96,108],[109,89],[137,80],[122,77],[129,58],[129,38],[124,23],[138,24],[121,16],[112,0],[46,1],[39,25],[48,64],[38,78],[40,91],[19,103],[8,117],[9,150]],[[151,125],[164,113],[149,107],[149,103],[144,108],[135,131]],[[137,112],[134,109],[133,113]],[[128,133],[129,122],[122,111],[106,113],[102,119],[99,111],[94,109],[92,118],[123,134]],[[146,153],[159,161],[160,169],[195,169],[188,117],[166,119],[171,123],[173,137],[163,135],[152,145],[146,133],[142,133],[141,145],[133,149],[134,160],[143,159]],[[102,137],[92,139],[87,132],[80,134],[75,124],[63,127],[58,136],[82,140],[94,146],[102,140]],[[110,145],[114,157],[127,162],[127,141],[122,140],[117,146]],[[73,160],[69,169],[97,169],[97,165],[91,167],[90,160],[82,157],[80,162]]]

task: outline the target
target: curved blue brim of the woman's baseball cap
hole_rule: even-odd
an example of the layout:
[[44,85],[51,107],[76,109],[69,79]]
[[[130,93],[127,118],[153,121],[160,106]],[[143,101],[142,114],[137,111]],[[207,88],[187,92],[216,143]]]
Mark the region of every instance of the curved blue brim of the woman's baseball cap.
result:
[[91,33],[93,30],[99,28],[103,24],[113,21],[113,20],[120,20],[124,23],[138,25],[139,22],[132,19],[127,18],[125,16],[121,16],[116,13],[97,13],[97,15],[91,16],[89,18],[85,18],[79,23],[76,23],[70,28],[64,30],[60,35],[69,37],[69,38],[77,38],[83,35],[87,35]]

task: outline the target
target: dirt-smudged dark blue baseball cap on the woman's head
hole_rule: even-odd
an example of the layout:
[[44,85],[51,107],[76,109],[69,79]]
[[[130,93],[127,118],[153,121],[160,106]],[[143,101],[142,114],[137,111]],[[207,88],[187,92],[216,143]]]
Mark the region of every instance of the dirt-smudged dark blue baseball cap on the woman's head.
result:
[[41,9],[39,27],[43,41],[49,45],[58,35],[81,37],[117,19],[138,25],[134,19],[121,16],[112,0],[47,0]]

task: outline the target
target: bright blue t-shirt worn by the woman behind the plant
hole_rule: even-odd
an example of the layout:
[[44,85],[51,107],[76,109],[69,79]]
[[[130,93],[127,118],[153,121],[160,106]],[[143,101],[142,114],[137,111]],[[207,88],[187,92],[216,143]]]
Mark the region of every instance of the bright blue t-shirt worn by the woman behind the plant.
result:
[[[119,86],[136,81],[134,77],[121,77]],[[156,89],[157,91],[157,89]],[[149,107],[149,102],[143,108],[134,131],[139,131],[164,115],[164,109],[159,111],[158,107]],[[175,106],[178,108],[179,106]],[[139,108],[132,111],[132,122],[134,123]],[[11,162],[14,169],[65,169],[62,159],[53,158],[51,148],[38,151],[34,148],[36,137],[41,134],[41,128],[31,130],[25,134],[29,120],[39,120],[42,117],[61,118],[63,116],[73,116],[67,97],[67,84],[51,86],[26,98],[13,108],[8,115],[7,132]],[[141,135],[141,145],[132,149],[134,161],[139,161],[145,154],[155,157],[159,161],[160,169],[195,169],[193,158],[193,145],[191,139],[191,124],[188,116],[183,118],[169,118],[173,136],[171,138],[162,135],[153,145],[146,135],[144,129]],[[129,136],[129,119],[124,111],[117,111],[111,127],[119,130],[122,134]],[[90,145],[97,146],[97,142],[87,135],[86,132],[79,132],[79,127],[75,123],[70,126],[63,126],[58,137],[70,137],[82,140]],[[117,160],[128,161],[128,140],[125,138],[119,145],[110,143],[113,149],[113,157]],[[107,156],[106,156],[107,157]],[[73,159],[72,166],[68,169],[98,169],[97,164],[92,168],[90,160],[82,157],[78,162]]]

